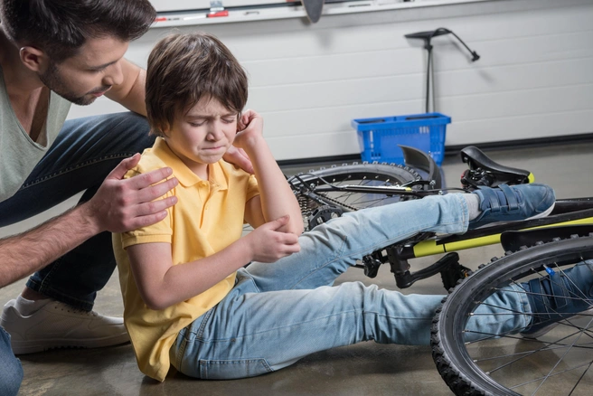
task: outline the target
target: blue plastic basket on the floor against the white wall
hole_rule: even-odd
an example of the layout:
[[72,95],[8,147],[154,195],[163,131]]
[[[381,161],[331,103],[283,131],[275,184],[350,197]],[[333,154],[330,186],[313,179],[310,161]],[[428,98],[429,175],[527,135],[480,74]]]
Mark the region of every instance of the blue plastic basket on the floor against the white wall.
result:
[[398,145],[412,146],[430,154],[438,165],[445,156],[445,135],[451,118],[440,113],[358,118],[352,126],[358,132],[362,161],[403,164]]

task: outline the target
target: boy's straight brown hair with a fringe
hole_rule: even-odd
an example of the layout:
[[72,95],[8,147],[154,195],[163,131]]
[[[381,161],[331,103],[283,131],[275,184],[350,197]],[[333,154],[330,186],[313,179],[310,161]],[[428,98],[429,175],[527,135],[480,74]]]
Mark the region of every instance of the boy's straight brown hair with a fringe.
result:
[[217,99],[240,111],[247,103],[247,75],[231,51],[208,33],[175,33],[157,42],[146,68],[150,133],[165,137],[174,118],[200,99]]

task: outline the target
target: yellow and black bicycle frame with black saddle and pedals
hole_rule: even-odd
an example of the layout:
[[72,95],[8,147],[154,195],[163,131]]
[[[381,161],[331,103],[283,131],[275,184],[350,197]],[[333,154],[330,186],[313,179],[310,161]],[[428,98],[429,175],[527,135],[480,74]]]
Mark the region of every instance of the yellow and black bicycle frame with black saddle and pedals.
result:
[[[313,180],[308,179],[307,182],[300,180],[302,182],[299,184],[300,193],[330,208],[326,209],[326,212],[341,215],[343,212],[348,212],[349,209],[338,208],[336,203],[325,200],[324,193],[373,193],[422,198],[450,190],[462,190],[469,193],[475,188],[479,188],[479,185],[522,184],[533,181],[531,172],[496,164],[479,149],[469,146],[462,150],[462,159],[469,166],[466,173],[462,175],[464,187],[441,189],[440,172],[434,161],[413,147],[401,146],[401,148],[404,151],[406,165],[425,171],[428,174],[428,180],[414,181],[401,186],[334,185],[322,180],[324,184],[303,187]],[[331,216],[328,215],[321,221],[325,222],[330,218]],[[319,222],[319,219],[315,220]],[[574,228],[582,225],[588,225],[588,227]],[[365,275],[374,278],[379,267],[389,262],[398,288],[409,288],[419,279],[440,273],[443,284],[448,290],[455,287],[459,278],[465,278],[471,273],[470,269],[459,264],[459,256],[455,253],[457,250],[494,245],[502,241],[505,250],[517,250],[522,245],[532,246],[540,240],[552,240],[557,235],[569,236],[572,233],[588,234],[588,232],[593,232],[593,198],[559,200],[551,215],[545,218],[495,223],[477,230],[467,231],[463,235],[437,237],[429,233],[420,234],[410,240],[400,241],[381,251],[373,252],[364,257],[362,264],[358,264],[356,267],[364,269]],[[510,234],[512,236],[509,236]],[[522,245],[515,246],[517,243],[513,242],[514,240],[521,240]],[[409,259],[442,253],[448,254],[427,269],[410,272]]]

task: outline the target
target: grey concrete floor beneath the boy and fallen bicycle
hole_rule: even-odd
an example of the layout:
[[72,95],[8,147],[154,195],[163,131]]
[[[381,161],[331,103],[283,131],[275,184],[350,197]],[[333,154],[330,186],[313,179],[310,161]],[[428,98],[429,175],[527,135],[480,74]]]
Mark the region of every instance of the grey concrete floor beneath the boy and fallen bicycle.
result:
[[[559,198],[593,196],[593,144],[539,147],[488,152],[495,161],[529,169],[537,182],[550,184]],[[313,167],[307,167],[309,168]],[[459,158],[447,157],[443,170],[447,185],[457,186],[465,169]],[[294,174],[296,167],[285,167]],[[76,198],[60,207],[42,213],[27,222],[0,228],[0,237],[24,231],[37,222],[63,211]],[[499,247],[461,252],[462,263],[475,268],[493,256]],[[417,269],[433,260],[417,259]],[[99,293],[96,310],[104,315],[121,316],[122,301],[117,273]],[[359,269],[351,269],[337,283],[361,280],[381,288],[395,289],[388,268],[375,279],[365,278]],[[0,289],[0,304],[16,297],[24,280]],[[439,278],[421,281],[404,293],[443,294]],[[20,356],[24,366],[22,395],[268,395],[268,394],[400,394],[450,395],[441,380],[428,346],[381,345],[372,342],[335,348],[309,355],[294,365],[256,378],[236,381],[197,381],[174,372],[163,383],[155,382],[136,367],[129,344],[96,350],[57,350]]]

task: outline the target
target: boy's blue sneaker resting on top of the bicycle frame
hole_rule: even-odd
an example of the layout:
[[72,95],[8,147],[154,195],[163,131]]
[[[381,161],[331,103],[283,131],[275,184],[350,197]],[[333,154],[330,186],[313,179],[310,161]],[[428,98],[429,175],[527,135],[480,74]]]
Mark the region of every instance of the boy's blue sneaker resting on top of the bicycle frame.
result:
[[545,184],[501,184],[475,190],[480,199],[481,213],[471,222],[470,228],[489,222],[512,222],[536,219],[551,213],[556,203],[554,190]]

